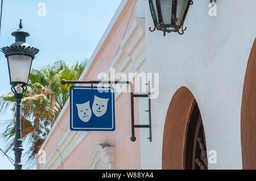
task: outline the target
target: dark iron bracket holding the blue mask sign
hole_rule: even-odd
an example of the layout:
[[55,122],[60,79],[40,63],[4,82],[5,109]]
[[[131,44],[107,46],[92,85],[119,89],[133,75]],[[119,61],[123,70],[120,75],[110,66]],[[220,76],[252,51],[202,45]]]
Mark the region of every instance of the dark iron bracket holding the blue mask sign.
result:
[[[133,92],[133,83],[130,81],[66,81],[66,80],[61,80],[61,84],[89,84],[93,87],[93,84],[122,84],[122,85],[129,85],[130,86],[130,99],[131,99],[131,141],[136,141],[135,137],[135,128],[148,128],[149,129],[149,137],[148,140],[150,142],[152,141],[152,132],[151,132],[151,99],[150,99],[150,91],[148,91],[148,94],[134,94]],[[150,90],[150,82],[146,84],[148,86],[148,90]],[[134,98],[148,98],[148,125],[135,125],[134,123]]]

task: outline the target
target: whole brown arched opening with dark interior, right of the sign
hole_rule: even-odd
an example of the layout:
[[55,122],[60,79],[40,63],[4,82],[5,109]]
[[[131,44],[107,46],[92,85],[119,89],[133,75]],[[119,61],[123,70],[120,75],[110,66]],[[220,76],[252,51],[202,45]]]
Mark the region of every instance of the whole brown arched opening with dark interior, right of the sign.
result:
[[191,91],[174,94],[164,125],[163,169],[207,169],[203,121]]

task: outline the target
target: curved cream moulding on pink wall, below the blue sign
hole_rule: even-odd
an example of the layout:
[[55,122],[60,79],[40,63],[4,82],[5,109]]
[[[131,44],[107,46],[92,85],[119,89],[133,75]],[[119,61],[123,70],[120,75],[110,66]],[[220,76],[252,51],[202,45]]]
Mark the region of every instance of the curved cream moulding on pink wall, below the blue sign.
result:
[[[108,144],[96,145],[87,161],[87,165],[91,170],[102,169],[102,164],[104,169],[114,170],[115,148],[110,147]],[[99,168],[100,165],[101,167]]]

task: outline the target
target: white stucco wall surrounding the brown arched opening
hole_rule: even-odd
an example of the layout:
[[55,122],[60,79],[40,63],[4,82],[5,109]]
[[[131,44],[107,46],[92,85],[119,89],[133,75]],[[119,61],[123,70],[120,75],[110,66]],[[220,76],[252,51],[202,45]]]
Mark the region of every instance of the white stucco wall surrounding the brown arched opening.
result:
[[153,23],[146,1],[147,61],[139,72],[159,73],[160,91],[151,105],[152,142],[146,139],[148,132],[141,132],[141,150],[150,156],[141,157],[142,169],[162,169],[164,121],[181,86],[188,87],[199,104],[208,151],[217,151],[217,164],[209,169],[242,169],[241,100],[256,35],[256,1],[219,0],[217,16],[208,15],[208,4],[208,0],[194,0],[184,35],[164,37],[160,31],[148,31]]

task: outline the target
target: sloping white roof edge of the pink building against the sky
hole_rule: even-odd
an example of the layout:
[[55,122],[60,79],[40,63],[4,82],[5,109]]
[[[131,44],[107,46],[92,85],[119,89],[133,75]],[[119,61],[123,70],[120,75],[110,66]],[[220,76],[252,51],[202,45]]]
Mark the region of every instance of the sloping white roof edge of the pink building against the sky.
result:
[[[110,23],[108,25],[108,27],[106,28],[104,34],[102,35],[99,43],[97,44],[96,49],[94,50],[92,56],[90,57],[90,60],[88,62],[88,65],[86,65],[84,71],[82,71],[82,74],[79,78],[79,80],[81,81],[82,79],[84,79],[86,72],[89,70],[90,66],[92,65],[92,62],[94,61],[94,58],[97,56],[99,50],[101,49],[102,45],[104,44],[106,38],[108,37],[110,31],[112,30],[112,28],[114,27],[115,23],[117,22],[117,19],[119,18],[119,15],[121,15],[121,12],[123,11],[124,7],[127,5],[127,2],[129,2],[130,0],[122,0],[122,2],[120,3],[120,5],[118,6],[117,11],[115,11],[115,14],[113,16],[113,18],[110,20]],[[55,129],[57,123],[59,122],[60,118],[63,116],[64,111],[67,109],[69,104],[69,98],[67,100],[67,102],[65,103],[63,109],[60,112],[60,115],[57,117],[55,123],[53,124],[51,131],[49,132],[46,140],[44,141],[42,147],[40,148],[40,150],[42,150],[44,148],[44,146],[46,145],[49,137],[51,137],[51,134],[53,132],[53,130]]]

